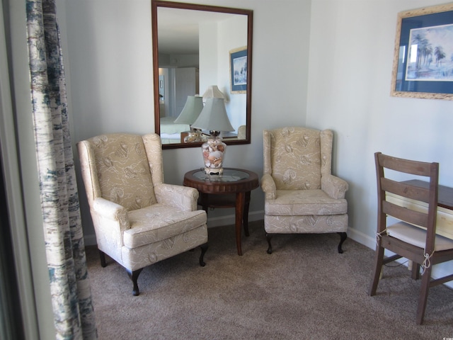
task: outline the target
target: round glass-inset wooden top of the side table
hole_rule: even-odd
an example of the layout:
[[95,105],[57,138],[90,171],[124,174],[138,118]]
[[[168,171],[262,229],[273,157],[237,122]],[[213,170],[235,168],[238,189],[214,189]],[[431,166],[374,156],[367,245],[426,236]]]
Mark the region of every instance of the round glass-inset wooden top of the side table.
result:
[[259,186],[256,173],[236,168],[224,168],[222,175],[208,175],[204,169],[188,171],[183,184],[202,193],[241,193]]

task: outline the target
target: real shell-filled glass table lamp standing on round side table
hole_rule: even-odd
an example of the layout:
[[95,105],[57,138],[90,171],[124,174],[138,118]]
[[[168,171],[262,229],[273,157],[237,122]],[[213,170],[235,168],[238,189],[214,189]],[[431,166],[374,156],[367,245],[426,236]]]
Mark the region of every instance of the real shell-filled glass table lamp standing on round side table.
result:
[[193,128],[210,131],[207,142],[201,146],[205,172],[208,175],[221,175],[224,171],[222,165],[226,144],[222,142],[222,138],[219,135],[220,132],[234,131],[228,115],[226,115],[224,99],[207,98],[205,107],[193,123]]

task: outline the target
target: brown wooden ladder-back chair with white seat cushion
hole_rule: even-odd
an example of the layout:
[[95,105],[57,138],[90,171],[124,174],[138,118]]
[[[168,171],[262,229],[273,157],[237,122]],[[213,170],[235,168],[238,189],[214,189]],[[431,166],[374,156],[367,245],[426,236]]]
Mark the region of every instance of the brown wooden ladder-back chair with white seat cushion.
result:
[[[382,266],[396,259],[406,258],[413,262],[412,277],[419,278],[422,268],[422,282],[418,297],[416,322],[423,323],[425,307],[430,287],[453,280],[453,275],[431,279],[432,266],[453,259],[453,240],[436,234],[437,192],[439,164],[416,162],[387,156],[381,152],[374,154],[377,174],[377,247],[374,258],[374,271],[369,286],[369,295],[376,295]],[[389,169],[392,171],[385,171]],[[397,172],[394,172],[397,171]],[[387,172],[423,176],[429,179],[428,188],[413,186],[406,181],[389,179]],[[389,195],[403,196],[428,204],[428,210],[418,211],[389,201]],[[414,205],[415,206],[415,205]],[[394,217],[397,222],[389,222]],[[384,250],[395,255],[384,258]]]

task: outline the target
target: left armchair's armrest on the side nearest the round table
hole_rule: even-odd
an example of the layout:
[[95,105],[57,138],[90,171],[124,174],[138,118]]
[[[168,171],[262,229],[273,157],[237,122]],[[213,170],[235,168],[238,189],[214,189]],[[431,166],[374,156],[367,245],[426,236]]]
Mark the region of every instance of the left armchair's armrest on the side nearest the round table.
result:
[[198,191],[189,186],[161,183],[154,187],[158,203],[171,205],[183,211],[197,210]]

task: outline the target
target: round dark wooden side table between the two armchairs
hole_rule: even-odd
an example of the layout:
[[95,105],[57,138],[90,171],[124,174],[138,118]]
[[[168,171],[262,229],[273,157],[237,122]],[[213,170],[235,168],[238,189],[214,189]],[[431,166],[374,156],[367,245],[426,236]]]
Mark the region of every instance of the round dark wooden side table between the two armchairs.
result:
[[253,171],[224,168],[222,175],[208,175],[204,169],[195,169],[184,175],[185,186],[196,188],[200,193],[200,205],[208,208],[236,208],[236,248],[242,255],[241,226],[248,236],[248,207],[250,193],[258,188],[258,175]]

